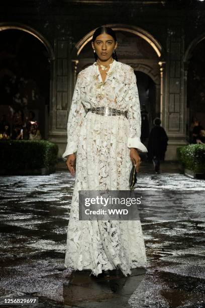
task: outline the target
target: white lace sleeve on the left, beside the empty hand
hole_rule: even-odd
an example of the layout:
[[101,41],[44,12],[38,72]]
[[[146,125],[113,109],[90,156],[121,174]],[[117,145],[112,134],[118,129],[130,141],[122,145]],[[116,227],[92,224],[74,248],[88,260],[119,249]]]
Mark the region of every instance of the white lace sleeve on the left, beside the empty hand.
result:
[[85,115],[86,115],[85,108],[80,101],[79,74],[78,74],[72,97],[70,112],[68,116],[67,146],[65,152],[62,155],[63,159],[66,159],[67,155],[77,151],[79,130]]

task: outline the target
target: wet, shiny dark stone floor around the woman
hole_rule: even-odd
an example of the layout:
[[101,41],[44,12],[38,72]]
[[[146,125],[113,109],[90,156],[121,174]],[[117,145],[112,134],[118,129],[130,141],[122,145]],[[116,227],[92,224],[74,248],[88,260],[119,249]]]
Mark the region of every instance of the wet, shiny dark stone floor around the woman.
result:
[[1,298],[38,297],[37,307],[205,307],[204,180],[173,164],[161,174],[142,164],[135,188],[159,200],[139,208],[148,267],[96,278],[64,268],[74,177],[63,168],[0,177]]

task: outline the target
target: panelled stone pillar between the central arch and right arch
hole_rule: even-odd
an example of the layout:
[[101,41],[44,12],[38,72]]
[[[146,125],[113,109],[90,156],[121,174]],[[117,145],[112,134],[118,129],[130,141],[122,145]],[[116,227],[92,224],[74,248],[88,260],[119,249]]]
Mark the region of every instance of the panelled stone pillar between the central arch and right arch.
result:
[[162,112],[162,123],[169,137],[166,160],[176,160],[176,148],[187,144],[184,36],[178,36],[178,32],[177,29],[167,38],[166,91]]

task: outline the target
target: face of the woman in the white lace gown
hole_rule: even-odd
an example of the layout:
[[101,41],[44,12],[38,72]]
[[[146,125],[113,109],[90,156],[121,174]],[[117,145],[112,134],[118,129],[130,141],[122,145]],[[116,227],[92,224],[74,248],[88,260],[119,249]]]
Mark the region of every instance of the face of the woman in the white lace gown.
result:
[[114,38],[107,34],[102,33],[98,35],[92,42],[92,48],[95,50],[99,60],[107,61],[112,57],[114,49],[117,48],[118,43],[115,43]]

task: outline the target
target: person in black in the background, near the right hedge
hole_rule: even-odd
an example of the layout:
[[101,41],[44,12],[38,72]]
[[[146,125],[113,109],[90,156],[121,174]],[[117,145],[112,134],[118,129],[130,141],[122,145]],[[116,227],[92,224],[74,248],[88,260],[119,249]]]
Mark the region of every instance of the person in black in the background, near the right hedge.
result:
[[160,161],[164,161],[167,149],[168,137],[163,127],[160,126],[161,120],[154,119],[154,127],[151,129],[148,141],[148,158],[153,161],[155,172],[160,171]]

